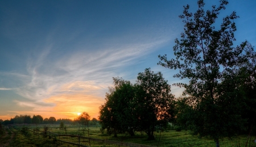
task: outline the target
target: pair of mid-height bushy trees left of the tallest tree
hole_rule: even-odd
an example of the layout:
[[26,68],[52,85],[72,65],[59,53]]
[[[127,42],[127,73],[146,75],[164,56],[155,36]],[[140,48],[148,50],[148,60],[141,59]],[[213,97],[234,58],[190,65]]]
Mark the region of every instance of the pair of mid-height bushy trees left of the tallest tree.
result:
[[147,68],[139,73],[137,83],[113,78],[114,87],[106,93],[99,120],[108,133],[144,131],[154,139],[157,125],[167,123],[174,115],[174,96],[163,75]]

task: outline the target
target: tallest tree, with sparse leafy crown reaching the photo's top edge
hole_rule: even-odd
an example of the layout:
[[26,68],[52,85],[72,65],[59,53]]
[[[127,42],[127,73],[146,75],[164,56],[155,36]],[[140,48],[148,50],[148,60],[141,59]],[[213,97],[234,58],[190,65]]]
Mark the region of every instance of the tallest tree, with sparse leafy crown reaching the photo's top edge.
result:
[[176,85],[185,88],[183,94],[195,110],[191,117],[193,132],[212,137],[219,146],[219,139],[243,129],[241,109],[246,96],[236,71],[252,57],[253,48],[247,41],[233,47],[236,12],[223,18],[220,29],[213,26],[228,1],[221,0],[218,7],[206,12],[203,0],[197,4],[195,14],[188,12],[187,5],[179,16],[185,25],[181,39],[175,40],[176,58],[168,60],[167,55],[159,55],[158,64],[179,69],[174,77],[189,79],[189,83]]

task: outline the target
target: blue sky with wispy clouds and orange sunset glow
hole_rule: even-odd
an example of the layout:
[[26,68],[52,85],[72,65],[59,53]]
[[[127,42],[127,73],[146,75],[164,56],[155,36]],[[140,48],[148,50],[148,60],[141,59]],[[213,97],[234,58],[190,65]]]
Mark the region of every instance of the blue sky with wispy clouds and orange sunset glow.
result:
[[[218,1],[205,1],[205,10]],[[162,72],[169,84],[178,71],[157,65],[174,58],[184,24],[181,1],[0,0],[0,119],[15,115],[97,118],[113,77],[135,83],[139,72]],[[256,46],[256,1],[229,1],[216,22],[236,11],[237,39]],[[187,80],[183,80],[186,82]],[[179,97],[182,89],[171,86]]]

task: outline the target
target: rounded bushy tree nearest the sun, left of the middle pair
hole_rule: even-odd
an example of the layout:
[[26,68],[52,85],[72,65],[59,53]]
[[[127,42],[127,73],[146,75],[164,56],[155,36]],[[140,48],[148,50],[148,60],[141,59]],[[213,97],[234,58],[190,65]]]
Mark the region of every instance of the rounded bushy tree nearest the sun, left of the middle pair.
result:
[[100,123],[117,136],[118,131],[129,132],[131,136],[135,131],[135,117],[132,114],[131,101],[134,98],[134,86],[130,81],[113,77],[114,87],[106,93],[106,102],[100,107]]

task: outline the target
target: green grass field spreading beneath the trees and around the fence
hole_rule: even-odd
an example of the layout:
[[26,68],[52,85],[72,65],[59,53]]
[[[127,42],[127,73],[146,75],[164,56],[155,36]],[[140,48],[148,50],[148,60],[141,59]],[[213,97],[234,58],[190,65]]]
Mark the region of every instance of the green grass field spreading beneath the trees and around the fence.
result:
[[[0,146],[6,144],[6,140],[10,140],[9,146],[73,146],[65,143],[59,143],[54,139],[49,139],[49,137],[43,137],[42,135],[36,135],[30,131],[22,132],[23,126],[15,126],[13,128],[7,129],[7,135],[2,136],[0,139]],[[35,126],[26,126],[28,128],[35,128]],[[40,131],[43,131],[43,126],[38,126]],[[9,130],[9,132],[8,132]],[[48,131],[59,134],[71,134],[71,135],[81,135],[88,136],[86,128],[79,126],[67,126],[67,130],[59,129],[59,126],[49,126]],[[66,132],[67,131],[67,132]],[[13,137],[11,135],[14,134]],[[212,139],[204,137],[199,139],[197,136],[191,136],[189,131],[176,132],[174,130],[155,132],[156,140],[147,140],[146,133],[136,132],[135,136],[131,137],[125,133],[118,134],[118,137],[113,137],[113,135],[107,135],[106,131],[102,134],[100,127],[89,127],[89,137],[104,140],[114,140],[122,142],[133,142],[135,144],[151,145],[151,146],[216,146]],[[57,137],[57,139],[59,139]],[[77,137],[60,137],[61,140],[69,142],[78,142]],[[250,138],[247,146],[256,146],[254,142],[255,136]],[[247,141],[247,136],[242,135],[234,138],[233,140],[224,139],[220,141],[220,146],[245,146]],[[88,140],[80,140],[81,144],[88,145]],[[90,146],[95,147],[107,147],[107,146],[118,146],[104,144],[101,142],[90,141]],[[119,147],[119,146],[118,146]]]

